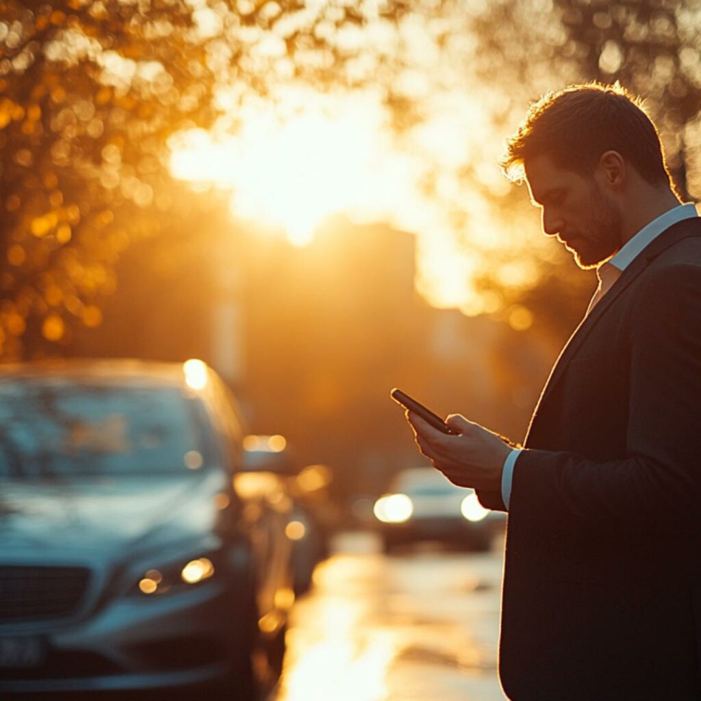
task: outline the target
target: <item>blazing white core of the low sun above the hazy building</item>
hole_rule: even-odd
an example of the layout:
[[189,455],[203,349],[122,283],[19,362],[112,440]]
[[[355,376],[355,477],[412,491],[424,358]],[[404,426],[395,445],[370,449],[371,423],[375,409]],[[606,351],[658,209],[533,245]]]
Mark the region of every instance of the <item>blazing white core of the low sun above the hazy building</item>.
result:
[[290,243],[311,243],[329,215],[358,210],[369,191],[377,129],[361,104],[307,105],[280,120],[269,109],[247,118],[235,135],[202,130],[179,135],[175,177],[231,190],[231,212],[285,231]]

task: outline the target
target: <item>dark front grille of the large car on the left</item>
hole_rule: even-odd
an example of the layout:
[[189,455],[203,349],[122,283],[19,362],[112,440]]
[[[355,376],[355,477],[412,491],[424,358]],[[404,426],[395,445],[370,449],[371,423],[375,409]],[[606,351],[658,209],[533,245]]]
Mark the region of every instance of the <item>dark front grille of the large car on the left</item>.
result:
[[70,615],[89,578],[85,567],[0,566],[0,622]]

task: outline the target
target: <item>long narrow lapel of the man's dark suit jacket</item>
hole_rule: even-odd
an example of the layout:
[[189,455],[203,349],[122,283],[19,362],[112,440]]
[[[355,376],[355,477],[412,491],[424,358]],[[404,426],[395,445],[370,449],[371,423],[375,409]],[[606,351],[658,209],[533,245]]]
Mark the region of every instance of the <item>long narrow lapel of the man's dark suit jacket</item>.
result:
[[531,416],[531,421],[529,423],[528,430],[526,431],[526,438],[524,440],[524,445],[528,441],[529,435],[531,435],[531,428],[533,428],[533,422],[538,416],[538,411],[540,407],[543,406],[543,402],[547,400],[554,388],[557,386],[559,379],[562,377],[569,361],[576,355],[580,346],[584,343],[589,335],[590,331],[597,325],[597,322],[601,317],[608,311],[608,309],[615,303],[616,299],[627,289],[627,287],[632,283],[637,276],[644,271],[644,269],[650,264],[650,262],[657,257],[662,251],[669,248],[669,246],[674,245],[677,241],[688,236],[698,236],[699,229],[698,226],[688,226],[689,222],[694,222],[698,224],[699,219],[685,219],[682,222],[677,222],[663,231],[660,236],[655,238],[648,246],[632,261],[631,264],[623,271],[620,278],[613,283],[611,290],[608,290],[604,297],[601,298],[599,304],[595,306],[588,316],[585,316],[583,320],[580,321],[578,327],[574,330],[573,334],[569,337],[567,343],[565,343],[564,348],[560,352],[557,360],[555,361],[552,370],[550,371],[550,376],[547,378],[543,392],[540,394],[540,399],[538,404],[536,404],[536,409],[533,411],[533,416]]

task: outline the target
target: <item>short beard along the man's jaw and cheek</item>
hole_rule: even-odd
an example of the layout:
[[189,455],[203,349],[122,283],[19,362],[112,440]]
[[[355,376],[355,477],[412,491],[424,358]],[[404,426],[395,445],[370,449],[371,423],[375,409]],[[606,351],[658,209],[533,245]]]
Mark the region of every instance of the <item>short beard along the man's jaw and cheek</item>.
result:
[[572,248],[574,259],[580,268],[594,268],[611,258],[620,248],[623,217],[618,207],[592,182],[590,221],[578,247]]

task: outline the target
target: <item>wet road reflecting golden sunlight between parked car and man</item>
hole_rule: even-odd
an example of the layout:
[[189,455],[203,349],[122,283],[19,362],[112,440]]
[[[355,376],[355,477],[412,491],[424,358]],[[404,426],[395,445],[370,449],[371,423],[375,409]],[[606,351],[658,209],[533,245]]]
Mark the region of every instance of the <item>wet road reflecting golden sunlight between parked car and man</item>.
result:
[[387,556],[336,539],[294,606],[270,701],[503,701],[496,658],[502,550]]

